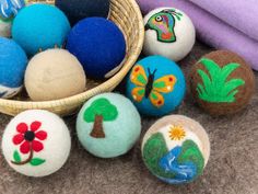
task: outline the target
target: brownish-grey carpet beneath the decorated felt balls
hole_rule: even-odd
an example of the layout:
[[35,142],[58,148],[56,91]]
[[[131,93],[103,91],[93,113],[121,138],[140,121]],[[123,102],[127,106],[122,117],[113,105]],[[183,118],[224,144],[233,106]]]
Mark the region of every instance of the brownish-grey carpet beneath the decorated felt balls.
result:
[[[211,49],[197,44],[181,67],[186,72]],[[258,85],[258,73],[256,72]],[[160,182],[145,169],[140,140],[126,156],[97,159],[79,145],[75,117],[66,118],[73,136],[71,156],[56,174],[31,179],[12,171],[0,156],[1,194],[258,194],[258,90],[250,105],[232,117],[212,118],[199,110],[188,95],[178,111],[199,121],[210,135],[211,157],[204,174],[188,185]],[[10,117],[0,116],[0,135]],[[142,135],[155,119],[142,118]]]

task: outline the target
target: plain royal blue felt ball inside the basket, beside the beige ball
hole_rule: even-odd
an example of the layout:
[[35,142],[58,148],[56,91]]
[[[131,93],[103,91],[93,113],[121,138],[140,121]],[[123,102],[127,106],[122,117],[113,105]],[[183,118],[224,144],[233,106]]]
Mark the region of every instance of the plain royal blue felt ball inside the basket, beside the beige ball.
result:
[[89,77],[114,76],[126,56],[126,41],[118,26],[103,18],[80,21],[70,32],[67,49],[77,56]]

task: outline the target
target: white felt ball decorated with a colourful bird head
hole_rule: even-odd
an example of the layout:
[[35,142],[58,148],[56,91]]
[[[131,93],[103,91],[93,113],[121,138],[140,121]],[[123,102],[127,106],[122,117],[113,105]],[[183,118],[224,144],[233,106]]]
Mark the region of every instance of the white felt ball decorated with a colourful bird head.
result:
[[191,20],[175,8],[159,8],[144,16],[145,55],[162,55],[178,61],[186,57],[195,42],[196,30]]

